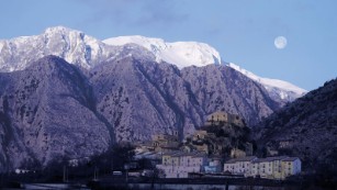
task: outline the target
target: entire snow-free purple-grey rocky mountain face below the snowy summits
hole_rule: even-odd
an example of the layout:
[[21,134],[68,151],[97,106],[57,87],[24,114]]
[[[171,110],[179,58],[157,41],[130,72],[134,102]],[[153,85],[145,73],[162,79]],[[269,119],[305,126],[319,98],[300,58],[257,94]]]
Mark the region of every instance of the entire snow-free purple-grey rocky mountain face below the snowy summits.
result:
[[158,64],[138,48],[86,70],[47,56],[21,71],[0,74],[0,167],[82,158],[114,142],[180,138],[214,111],[248,124],[278,109],[259,83],[227,66]]

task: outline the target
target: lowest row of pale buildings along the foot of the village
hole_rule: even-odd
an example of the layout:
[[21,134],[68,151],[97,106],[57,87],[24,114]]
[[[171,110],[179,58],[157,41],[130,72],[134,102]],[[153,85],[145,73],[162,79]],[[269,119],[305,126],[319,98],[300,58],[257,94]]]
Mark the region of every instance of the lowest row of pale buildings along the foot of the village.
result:
[[221,158],[209,158],[203,153],[176,152],[164,154],[157,169],[162,170],[164,178],[189,178],[195,174],[235,175],[241,177],[283,180],[301,172],[301,160],[297,157],[255,156],[229,159],[222,169]]

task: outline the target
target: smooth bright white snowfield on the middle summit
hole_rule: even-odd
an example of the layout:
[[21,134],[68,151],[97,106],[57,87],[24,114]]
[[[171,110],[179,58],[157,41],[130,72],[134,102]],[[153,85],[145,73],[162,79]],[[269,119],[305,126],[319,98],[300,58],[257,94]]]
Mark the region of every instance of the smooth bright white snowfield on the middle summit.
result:
[[134,35],[108,38],[103,43],[114,46],[130,43],[137,44],[150,51],[156,56],[157,62],[167,62],[177,65],[179,68],[221,63],[221,56],[214,47],[199,42],[168,43],[161,38]]

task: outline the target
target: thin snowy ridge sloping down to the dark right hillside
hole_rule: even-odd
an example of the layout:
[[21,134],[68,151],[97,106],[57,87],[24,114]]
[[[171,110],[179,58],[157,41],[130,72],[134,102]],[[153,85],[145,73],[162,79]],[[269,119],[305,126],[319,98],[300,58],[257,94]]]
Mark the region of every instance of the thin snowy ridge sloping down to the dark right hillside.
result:
[[227,66],[261,83],[273,99],[293,101],[307,92],[306,90],[283,80],[259,77],[233,63],[228,63]]

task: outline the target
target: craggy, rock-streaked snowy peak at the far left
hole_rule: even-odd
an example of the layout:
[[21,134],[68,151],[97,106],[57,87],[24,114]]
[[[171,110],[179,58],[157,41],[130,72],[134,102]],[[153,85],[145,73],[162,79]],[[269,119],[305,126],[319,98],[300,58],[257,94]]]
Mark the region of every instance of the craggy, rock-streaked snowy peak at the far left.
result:
[[113,47],[106,47],[101,41],[64,26],[48,27],[40,35],[0,41],[0,47],[1,71],[22,70],[47,55],[92,68],[115,54]]

